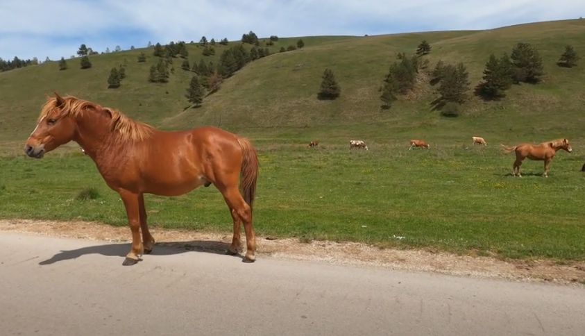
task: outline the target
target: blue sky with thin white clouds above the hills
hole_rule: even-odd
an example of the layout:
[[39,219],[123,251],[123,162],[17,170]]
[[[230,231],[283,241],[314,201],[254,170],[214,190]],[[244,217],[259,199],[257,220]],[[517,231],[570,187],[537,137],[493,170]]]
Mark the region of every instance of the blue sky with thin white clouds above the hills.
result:
[[0,0],[0,58],[192,40],[490,29],[577,19],[582,0]]

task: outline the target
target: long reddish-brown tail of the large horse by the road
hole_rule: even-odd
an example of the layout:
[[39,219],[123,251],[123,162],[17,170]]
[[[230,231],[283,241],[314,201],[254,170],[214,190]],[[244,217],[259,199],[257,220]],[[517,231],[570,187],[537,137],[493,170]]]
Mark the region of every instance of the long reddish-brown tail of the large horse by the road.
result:
[[251,142],[243,137],[238,139],[241,148],[241,169],[239,171],[239,189],[244,201],[253,208],[258,178],[258,154]]

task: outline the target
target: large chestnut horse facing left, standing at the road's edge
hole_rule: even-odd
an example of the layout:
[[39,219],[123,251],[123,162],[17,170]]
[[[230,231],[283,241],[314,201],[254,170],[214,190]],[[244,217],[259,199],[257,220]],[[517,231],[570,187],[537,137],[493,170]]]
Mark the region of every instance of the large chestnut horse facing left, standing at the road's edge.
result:
[[258,158],[248,140],[212,126],[161,131],[118,110],[57,92],[46,99],[24,151],[31,158],[42,158],[74,141],[92,158],[108,187],[120,194],[128,216],[132,246],[122,264],[135,264],[155,244],[146,222],[145,193],[178,196],[211,184],[223,195],[234,223],[227,254],[237,255],[241,249],[240,224],[244,222],[247,251],[243,261],[255,261],[252,208]]

